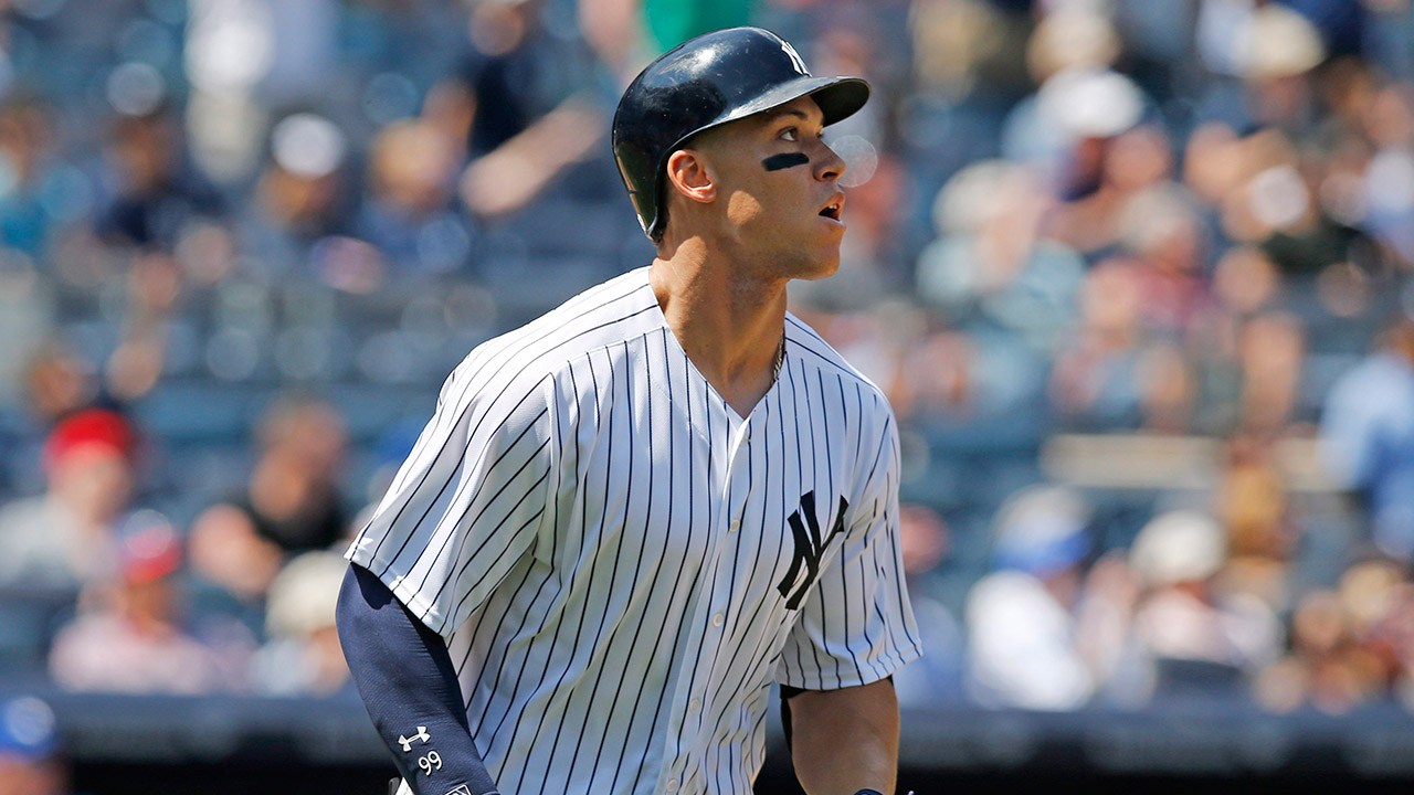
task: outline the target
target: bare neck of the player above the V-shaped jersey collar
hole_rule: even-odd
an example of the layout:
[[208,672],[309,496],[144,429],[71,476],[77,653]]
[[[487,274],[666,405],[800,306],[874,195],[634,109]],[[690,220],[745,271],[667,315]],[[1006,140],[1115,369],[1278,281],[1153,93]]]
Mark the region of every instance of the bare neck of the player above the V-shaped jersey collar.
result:
[[655,260],[649,280],[687,358],[740,416],[749,414],[775,383],[785,283],[744,276],[690,245]]

